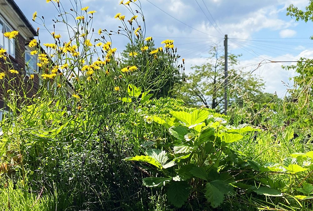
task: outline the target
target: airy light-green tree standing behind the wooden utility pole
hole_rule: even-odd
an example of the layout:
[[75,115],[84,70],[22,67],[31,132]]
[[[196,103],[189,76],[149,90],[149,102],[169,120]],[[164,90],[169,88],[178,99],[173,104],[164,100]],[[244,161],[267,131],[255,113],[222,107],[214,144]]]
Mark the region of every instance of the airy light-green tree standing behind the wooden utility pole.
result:
[[[218,48],[213,47],[209,51],[210,57],[202,65],[192,66],[186,83],[181,88],[178,98],[184,100],[190,106],[203,105],[213,108],[217,112],[223,111],[224,103],[224,57],[218,56]],[[239,96],[247,95],[255,98],[262,94],[264,83],[254,75],[240,73],[235,69],[239,64],[240,55],[228,55],[228,99],[229,103],[242,104]]]

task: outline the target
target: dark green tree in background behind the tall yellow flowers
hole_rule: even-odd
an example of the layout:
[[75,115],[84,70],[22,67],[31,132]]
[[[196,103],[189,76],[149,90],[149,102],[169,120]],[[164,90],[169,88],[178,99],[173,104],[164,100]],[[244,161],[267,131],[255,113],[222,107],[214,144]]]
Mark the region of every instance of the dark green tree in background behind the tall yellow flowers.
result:
[[[142,48],[148,47],[146,50]],[[175,48],[162,48],[162,51],[156,54],[151,54],[151,51],[158,49],[155,48],[154,41],[149,42],[135,40],[135,43],[128,43],[125,50],[121,53],[121,67],[126,67],[136,63],[139,70],[146,74],[146,84],[150,86],[151,93],[154,93],[156,98],[160,97],[173,97],[177,90],[172,90],[174,84],[181,86],[182,84],[182,65],[177,65],[177,58],[169,57],[169,51],[177,52]],[[132,53],[135,53],[132,55]],[[136,55],[140,54],[140,56]],[[153,69],[154,71],[146,71]],[[182,70],[182,71],[180,71]],[[141,74],[138,71],[134,74]],[[139,75],[138,75],[139,76]],[[154,83],[154,82],[159,83]],[[141,82],[142,83],[142,82]]]

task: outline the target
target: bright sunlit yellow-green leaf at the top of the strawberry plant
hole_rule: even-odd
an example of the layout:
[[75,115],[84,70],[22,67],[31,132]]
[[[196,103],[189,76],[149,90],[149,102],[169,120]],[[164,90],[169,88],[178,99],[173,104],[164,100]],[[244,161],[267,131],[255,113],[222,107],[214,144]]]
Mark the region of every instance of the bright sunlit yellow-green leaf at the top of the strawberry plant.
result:
[[172,111],[173,117],[186,124],[187,127],[202,123],[208,118],[209,112],[206,110],[194,110],[192,113],[185,111]]

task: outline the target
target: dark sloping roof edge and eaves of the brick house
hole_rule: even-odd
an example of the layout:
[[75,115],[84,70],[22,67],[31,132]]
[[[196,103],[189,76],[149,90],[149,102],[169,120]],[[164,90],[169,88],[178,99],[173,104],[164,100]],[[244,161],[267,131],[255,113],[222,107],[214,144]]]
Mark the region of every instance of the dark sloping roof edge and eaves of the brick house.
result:
[[[37,36],[37,31],[33,28],[32,24],[29,23],[21,9],[18,7],[18,5],[14,2],[14,0],[0,0],[0,6],[3,7],[3,9],[11,9],[15,12],[15,14],[18,16],[18,19],[20,20],[19,23],[23,24],[24,27],[27,27],[29,33],[28,36],[31,35],[31,37]],[[9,7],[9,8],[5,8]],[[15,16],[16,17],[16,16]],[[12,18],[10,18],[12,19]],[[15,18],[17,19],[17,18]]]

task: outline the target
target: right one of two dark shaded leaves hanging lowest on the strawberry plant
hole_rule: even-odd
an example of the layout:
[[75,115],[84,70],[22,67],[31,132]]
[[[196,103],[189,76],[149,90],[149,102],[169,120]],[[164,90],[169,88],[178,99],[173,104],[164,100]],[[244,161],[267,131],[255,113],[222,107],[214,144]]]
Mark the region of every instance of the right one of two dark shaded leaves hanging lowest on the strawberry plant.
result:
[[225,195],[233,191],[233,187],[222,180],[214,180],[205,185],[205,197],[213,208],[220,206],[225,198]]

